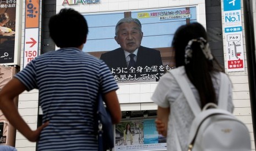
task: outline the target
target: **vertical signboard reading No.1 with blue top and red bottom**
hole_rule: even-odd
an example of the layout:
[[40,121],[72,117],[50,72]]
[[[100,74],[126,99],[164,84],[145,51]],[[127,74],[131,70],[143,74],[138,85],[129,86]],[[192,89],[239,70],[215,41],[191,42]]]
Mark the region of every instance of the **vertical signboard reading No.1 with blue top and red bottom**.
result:
[[241,0],[224,0],[227,72],[244,71]]

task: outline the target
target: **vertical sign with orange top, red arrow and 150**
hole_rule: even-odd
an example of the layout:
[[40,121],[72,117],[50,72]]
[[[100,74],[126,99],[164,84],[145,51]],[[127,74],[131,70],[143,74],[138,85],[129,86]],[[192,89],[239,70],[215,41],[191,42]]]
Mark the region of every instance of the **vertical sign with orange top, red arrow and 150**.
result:
[[39,0],[26,0],[23,68],[38,55]]

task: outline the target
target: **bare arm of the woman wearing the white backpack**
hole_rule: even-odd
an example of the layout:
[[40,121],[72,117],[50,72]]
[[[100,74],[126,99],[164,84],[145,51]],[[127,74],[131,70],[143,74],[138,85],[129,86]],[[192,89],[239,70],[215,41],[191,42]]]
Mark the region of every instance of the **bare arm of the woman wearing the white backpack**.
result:
[[158,106],[157,119],[155,121],[156,129],[159,134],[165,137],[167,136],[169,114],[170,114],[170,107],[162,108]]

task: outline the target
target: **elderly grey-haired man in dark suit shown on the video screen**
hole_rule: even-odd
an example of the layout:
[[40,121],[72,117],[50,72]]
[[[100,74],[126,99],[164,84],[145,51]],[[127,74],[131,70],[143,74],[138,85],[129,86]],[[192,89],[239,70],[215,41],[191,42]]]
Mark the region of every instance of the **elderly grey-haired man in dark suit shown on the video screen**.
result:
[[159,67],[162,66],[160,51],[141,46],[142,38],[138,19],[123,18],[117,22],[115,40],[121,48],[108,51],[100,57],[111,68],[114,76],[126,76],[133,80],[139,77],[154,78],[158,81],[161,75]]

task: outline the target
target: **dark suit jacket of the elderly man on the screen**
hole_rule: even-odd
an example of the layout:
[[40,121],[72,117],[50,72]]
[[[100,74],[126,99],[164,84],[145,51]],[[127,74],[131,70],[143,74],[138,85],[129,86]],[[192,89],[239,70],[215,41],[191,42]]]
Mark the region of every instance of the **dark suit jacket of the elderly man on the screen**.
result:
[[[122,48],[117,48],[115,50],[108,51],[107,53],[102,54],[100,59],[105,61],[105,63],[107,64],[108,67],[110,67],[110,69],[111,68],[117,69],[118,67],[127,68],[126,56],[124,55],[124,50]],[[159,68],[159,66],[161,65],[162,65],[162,59],[161,59],[161,54],[159,50],[146,48],[142,46],[139,47],[135,68],[136,67],[145,68],[146,66],[150,68],[152,66],[157,66],[157,68]],[[144,74],[144,72],[140,74]],[[116,75],[119,75],[119,74],[116,74]]]

